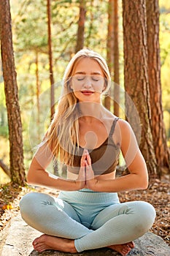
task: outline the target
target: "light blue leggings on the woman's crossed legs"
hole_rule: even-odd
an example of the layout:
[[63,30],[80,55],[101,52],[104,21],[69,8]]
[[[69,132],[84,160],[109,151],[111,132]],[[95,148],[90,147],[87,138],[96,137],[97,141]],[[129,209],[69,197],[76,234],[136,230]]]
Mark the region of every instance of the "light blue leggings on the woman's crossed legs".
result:
[[77,252],[125,244],[152,227],[155,209],[143,201],[120,203],[117,193],[29,193],[20,200],[23,219],[50,236],[74,239]]

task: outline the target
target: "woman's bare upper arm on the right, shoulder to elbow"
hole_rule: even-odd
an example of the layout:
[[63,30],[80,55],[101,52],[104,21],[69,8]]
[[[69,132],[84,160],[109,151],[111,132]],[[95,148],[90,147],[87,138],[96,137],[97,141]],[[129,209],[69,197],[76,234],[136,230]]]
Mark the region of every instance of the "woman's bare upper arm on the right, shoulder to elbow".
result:
[[139,149],[134,131],[127,121],[120,119],[120,148],[125,159],[125,164],[130,173],[145,173],[147,175],[147,166],[144,157]]

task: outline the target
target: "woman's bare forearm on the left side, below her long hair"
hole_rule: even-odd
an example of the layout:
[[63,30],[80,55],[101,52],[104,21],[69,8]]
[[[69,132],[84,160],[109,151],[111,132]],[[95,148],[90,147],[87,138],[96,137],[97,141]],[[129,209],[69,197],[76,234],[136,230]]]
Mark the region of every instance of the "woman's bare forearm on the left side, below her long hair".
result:
[[80,181],[67,180],[58,176],[54,176],[45,170],[34,170],[34,175],[28,173],[28,184],[39,187],[48,187],[64,191],[76,191],[82,188]]

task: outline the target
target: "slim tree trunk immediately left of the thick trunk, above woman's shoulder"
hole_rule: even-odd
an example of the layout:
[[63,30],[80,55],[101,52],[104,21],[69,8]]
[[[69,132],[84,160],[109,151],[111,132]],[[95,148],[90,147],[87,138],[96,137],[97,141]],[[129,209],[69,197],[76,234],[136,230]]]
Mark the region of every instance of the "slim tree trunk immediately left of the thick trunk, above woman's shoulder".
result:
[[113,20],[113,33],[114,33],[114,114],[119,116],[119,102],[120,102],[120,87],[119,87],[119,26],[118,26],[118,0],[114,1],[114,20]]

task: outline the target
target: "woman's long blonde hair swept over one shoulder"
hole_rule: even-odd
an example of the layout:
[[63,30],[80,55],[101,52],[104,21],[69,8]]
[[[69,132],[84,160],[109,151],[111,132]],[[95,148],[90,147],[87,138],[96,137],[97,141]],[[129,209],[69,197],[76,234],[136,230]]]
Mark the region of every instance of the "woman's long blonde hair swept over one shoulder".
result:
[[53,121],[47,130],[46,141],[50,146],[53,156],[66,165],[72,165],[74,154],[79,148],[79,104],[74,92],[71,89],[71,78],[78,61],[84,58],[90,58],[98,62],[104,72],[105,89],[109,90],[110,75],[107,62],[98,53],[93,50],[82,49],[77,52],[63,75],[63,89],[58,106],[55,111]]

